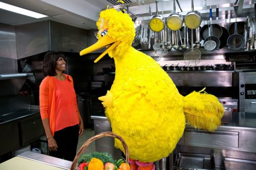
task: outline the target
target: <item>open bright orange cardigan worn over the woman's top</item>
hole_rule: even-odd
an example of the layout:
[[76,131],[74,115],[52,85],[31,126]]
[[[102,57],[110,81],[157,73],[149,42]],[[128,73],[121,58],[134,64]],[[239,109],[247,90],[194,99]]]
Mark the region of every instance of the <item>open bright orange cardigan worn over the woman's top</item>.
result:
[[[72,77],[69,75],[65,76],[68,79],[68,81],[72,84],[72,86],[74,86]],[[55,132],[55,90],[53,79],[54,77],[47,76],[44,80],[42,80],[39,86],[39,105],[41,119],[49,119],[49,125],[52,136],[54,136]],[[79,119],[78,110],[76,110],[76,113]]]

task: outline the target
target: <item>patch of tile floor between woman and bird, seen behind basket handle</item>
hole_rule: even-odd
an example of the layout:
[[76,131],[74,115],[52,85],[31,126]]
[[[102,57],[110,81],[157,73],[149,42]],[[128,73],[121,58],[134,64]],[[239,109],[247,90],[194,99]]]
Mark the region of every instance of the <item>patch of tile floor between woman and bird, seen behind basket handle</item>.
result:
[[[91,137],[93,137],[94,134],[94,130],[93,129],[84,129],[83,135],[79,137],[78,139],[78,144],[77,144],[77,150],[78,151],[82,144],[84,142],[86,142],[88,139],[90,139]],[[84,153],[93,153],[95,152],[95,141],[90,143],[88,145],[88,147],[84,150]]]

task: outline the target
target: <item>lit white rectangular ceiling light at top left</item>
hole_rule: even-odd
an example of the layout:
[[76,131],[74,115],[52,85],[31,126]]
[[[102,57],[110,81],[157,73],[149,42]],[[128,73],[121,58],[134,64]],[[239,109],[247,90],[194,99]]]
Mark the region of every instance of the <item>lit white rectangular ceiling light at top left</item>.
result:
[[0,2],[0,9],[15,12],[15,13],[22,14],[22,15],[27,15],[27,16],[30,16],[30,17],[33,17],[33,18],[47,17],[47,15],[43,15],[43,14],[40,14],[40,13],[37,13],[37,12],[33,12],[33,11],[26,10],[26,9],[23,9],[23,8],[15,7],[13,5],[9,5],[9,4],[2,3],[2,2]]

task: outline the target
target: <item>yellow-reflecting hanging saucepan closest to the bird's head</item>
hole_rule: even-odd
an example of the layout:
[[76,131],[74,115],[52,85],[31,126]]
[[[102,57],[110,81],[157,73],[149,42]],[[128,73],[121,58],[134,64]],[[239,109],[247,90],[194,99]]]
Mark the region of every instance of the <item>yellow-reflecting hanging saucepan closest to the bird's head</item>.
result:
[[160,32],[164,29],[165,19],[162,15],[158,15],[158,8],[157,8],[156,1],[156,15],[150,20],[150,29],[154,32]]

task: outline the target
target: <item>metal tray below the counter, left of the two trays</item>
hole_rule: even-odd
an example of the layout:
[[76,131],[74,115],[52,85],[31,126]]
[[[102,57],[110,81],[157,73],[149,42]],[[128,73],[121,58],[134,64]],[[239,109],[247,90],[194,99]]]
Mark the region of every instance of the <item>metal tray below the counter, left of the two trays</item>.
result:
[[215,159],[213,155],[177,153],[174,169],[212,170]]

